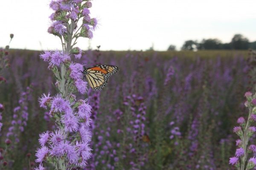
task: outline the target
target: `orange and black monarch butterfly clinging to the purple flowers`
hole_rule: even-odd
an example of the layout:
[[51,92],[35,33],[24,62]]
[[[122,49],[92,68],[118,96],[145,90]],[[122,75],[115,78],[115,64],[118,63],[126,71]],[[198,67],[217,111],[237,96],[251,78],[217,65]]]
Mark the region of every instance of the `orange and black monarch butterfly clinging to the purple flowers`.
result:
[[119,68],[114,65],[96,65],[90,68],[84,67],[84,77],[87,78],[90,87],[99,91],[107,85],[108,77],[117,73]]

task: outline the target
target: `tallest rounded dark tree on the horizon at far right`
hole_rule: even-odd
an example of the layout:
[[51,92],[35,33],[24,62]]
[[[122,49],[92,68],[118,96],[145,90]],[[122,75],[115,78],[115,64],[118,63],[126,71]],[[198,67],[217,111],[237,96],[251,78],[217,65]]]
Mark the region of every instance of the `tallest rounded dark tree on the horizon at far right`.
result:
[[230,43],[233,49],[246,50],[249,48],[249,40],[241,34],[234,35]]

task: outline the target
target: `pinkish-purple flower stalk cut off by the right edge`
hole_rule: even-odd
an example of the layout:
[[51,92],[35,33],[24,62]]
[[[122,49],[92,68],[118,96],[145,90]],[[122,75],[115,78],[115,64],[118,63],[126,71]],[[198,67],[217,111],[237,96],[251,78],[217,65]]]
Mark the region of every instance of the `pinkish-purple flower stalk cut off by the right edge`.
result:
[[251,170],[256,166],[256,157],[251,157],[248,160],[249,154],[256,152],[256,145],[248,145],[250,138],[256,132],[256,127],[251,126],[253,122],[256,122],[256,93],[252,95],[251,92],[246,92],[244,96],[247,99],[245,106],[249,109],[249,116],[247,121],[245,121],[244,117],[240,117],[237,120],[240,126],[236,126],[233,129],[240,139],[236,140],[238,148],[235,156],[230,158],[230,164],[238,170]]

